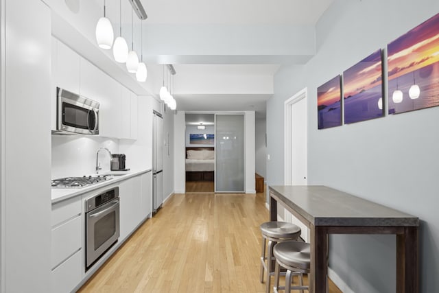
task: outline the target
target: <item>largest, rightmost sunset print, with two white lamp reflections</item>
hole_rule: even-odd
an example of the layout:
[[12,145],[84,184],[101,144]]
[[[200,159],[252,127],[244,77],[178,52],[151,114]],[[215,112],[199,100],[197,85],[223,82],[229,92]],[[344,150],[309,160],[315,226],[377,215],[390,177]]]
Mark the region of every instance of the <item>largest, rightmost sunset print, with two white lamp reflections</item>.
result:
[[439,106],[439,14],[387,46],[389,114]]

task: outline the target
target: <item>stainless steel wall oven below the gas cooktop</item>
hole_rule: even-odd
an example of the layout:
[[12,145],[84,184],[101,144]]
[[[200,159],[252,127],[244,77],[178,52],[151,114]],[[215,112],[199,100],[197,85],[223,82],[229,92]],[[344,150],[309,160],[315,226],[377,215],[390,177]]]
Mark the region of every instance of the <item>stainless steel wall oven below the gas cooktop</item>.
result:
[[86,217],[86,268],[90,268],[120,235],[119,187],[88,198]]

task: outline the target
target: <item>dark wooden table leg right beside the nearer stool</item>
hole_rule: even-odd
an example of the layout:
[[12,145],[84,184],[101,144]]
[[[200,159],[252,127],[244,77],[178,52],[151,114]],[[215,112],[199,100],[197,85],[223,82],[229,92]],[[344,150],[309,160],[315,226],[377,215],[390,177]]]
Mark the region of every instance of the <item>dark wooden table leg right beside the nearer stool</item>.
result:
[[311,224],[311,293],[327,292],[327,228]]

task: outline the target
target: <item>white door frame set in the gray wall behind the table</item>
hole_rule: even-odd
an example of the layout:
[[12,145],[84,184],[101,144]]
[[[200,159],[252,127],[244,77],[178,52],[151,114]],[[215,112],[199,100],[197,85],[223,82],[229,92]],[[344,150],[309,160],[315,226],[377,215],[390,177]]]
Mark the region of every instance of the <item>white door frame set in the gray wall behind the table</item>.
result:
[[[292,135],[292,122],[293,122],[293,116],[292,116],[292,108],[293,105],[299,102],[302,99],[307,99],[307,88],[302,89],[298,91],[295,95],[292,97],[289,97],[284,102],[284,184],[285,185],[292,185],[292,175],[293,175],[293,164],[292,164],[292,145],[293,145],[293,135]],[[306,115],[307,116],[307,115]],[[307,124],[305,124],[305,133],[307,133]],[[308,140],[308,135],[307,135]],[[305,141],[305,144],[308,144],[308,141]],[[305,169],[308,170],[308,160],[306,160]],[[307,180],[307,179],[306,179]],[[308,181],[308,180],[307,180]]]

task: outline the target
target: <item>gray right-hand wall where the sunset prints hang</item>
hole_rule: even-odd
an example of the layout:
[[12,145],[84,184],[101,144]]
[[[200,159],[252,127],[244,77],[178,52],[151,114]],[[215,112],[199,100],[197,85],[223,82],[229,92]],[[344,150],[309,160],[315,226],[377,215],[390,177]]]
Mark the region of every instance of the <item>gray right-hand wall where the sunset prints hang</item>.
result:
[[[418,216],[425,293],[439,292],[439,108],[317,130],[316,88],[437,12],[437,0],[335,0],[316,25],[316,56],[282,67],[267,105],[268,185],[283,184],[283,102],[307,87],[309,184]],[[335,235],[330,242],[330,266],[353,291],[395,292],[394,236]]]

